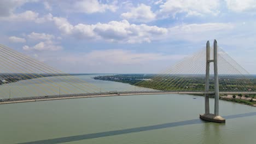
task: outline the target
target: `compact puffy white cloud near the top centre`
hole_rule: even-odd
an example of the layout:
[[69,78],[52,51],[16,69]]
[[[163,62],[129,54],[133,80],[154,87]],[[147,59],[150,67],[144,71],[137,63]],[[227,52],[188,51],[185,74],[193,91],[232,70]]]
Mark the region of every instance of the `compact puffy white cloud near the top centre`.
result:
[[139,4],[136,8],[130,8],[129,12],[121,14],[121,17],[132,21],[149,22],[154,20],[156,15],[150,6]]

